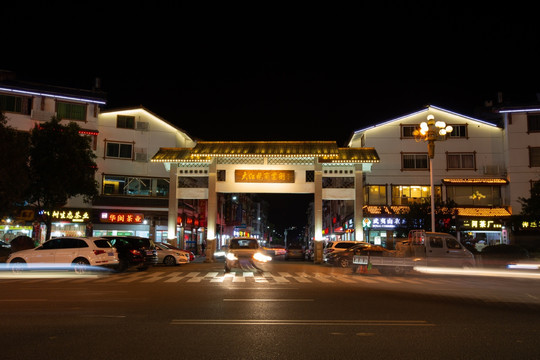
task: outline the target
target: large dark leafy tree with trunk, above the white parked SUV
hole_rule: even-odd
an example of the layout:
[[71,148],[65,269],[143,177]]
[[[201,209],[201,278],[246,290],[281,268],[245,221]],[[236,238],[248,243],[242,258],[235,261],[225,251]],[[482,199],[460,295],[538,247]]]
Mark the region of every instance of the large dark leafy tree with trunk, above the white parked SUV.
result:
[[30,201],[43,210],[47,240],[54,209],[65,206],[70,197],[82,196],[90,202],[98,194],[96,155],[90,139],[81,136],[80,130],[74,122],[61,125],[52,117],[36,125],[30,135]]

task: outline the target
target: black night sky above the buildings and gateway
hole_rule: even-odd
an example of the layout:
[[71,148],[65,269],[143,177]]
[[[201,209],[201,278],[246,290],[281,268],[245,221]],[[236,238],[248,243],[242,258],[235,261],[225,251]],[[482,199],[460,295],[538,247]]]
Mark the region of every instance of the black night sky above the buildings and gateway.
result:
[[[117,11],[96,4],[83,18],[25,14],[33,35],[3,46],[0,69],[84,89],[100,78],[106,110],[142,105],[199,140],[346,146],[355,130],[428,104],[474,116],[498,92],[535,100],[534,14],[514,4],[385,1]],[[4,28],[20,27],[16,19]]]

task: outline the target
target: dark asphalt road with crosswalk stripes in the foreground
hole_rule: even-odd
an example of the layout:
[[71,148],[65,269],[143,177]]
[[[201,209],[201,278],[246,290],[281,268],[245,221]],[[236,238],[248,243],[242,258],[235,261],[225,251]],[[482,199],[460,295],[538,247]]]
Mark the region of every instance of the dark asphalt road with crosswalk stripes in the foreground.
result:
[[385,277],[301,261],[6,275],[5,360],[540,358],[537,278]]

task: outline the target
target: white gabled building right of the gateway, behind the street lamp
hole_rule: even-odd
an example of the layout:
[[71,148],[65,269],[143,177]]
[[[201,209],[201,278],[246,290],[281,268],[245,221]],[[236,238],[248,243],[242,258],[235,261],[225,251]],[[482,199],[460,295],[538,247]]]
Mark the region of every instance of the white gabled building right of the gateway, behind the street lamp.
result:
[[349,146],[373,147],[380,157],[380,162],[365,175],[364,199],[369,214],[364,224],[366,238],[385,243],[385,238],[392,236],[403,207],[430,203],[428,143],[414,133],[428,115],[453,127],[449,135],[434,142],[435,201],[451,200],[457,204],[458,234],[486,243],[507,242],[502,220],[511,212],[503,128],[436,106],[352,135]]

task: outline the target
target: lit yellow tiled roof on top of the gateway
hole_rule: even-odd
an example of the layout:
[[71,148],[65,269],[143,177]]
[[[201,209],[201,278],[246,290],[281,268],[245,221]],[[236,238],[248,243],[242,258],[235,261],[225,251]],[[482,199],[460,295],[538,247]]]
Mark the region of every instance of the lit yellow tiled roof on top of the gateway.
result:
[[324,163],[378,162],[373,148],[338,148],[333,141],[200,141],[194,148],[160,148],[153,162],[212,157],[318,157]]

